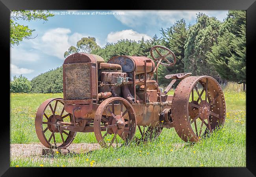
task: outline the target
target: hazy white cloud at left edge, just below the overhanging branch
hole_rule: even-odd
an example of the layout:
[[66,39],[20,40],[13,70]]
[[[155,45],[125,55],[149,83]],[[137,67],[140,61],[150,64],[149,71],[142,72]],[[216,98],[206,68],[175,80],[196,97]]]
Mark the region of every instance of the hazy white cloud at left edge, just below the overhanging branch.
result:
[[27,51],[22,48],[11,48],[11,62],[12,63],[23,63],[38,61],[40,55],[33,51]]

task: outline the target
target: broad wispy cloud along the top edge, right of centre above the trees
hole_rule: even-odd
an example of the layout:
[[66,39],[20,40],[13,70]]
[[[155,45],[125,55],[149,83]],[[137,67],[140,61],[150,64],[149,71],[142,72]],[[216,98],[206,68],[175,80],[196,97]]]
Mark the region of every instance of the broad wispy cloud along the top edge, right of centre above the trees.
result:
[[122,24],[136,28],[138,26],[158,26],[158,28],[170,26],[177,20],[184,18],[189,24],[194,22],[196,19],[196,13],[202,12],[209,16],[215,16],[219,20],[223,20],[226,17],[228,11],[206,11],[206,10],[161,10],[161,11],[114,11],[124,12],[124,15],[115,15],[117,20],[121,21]]

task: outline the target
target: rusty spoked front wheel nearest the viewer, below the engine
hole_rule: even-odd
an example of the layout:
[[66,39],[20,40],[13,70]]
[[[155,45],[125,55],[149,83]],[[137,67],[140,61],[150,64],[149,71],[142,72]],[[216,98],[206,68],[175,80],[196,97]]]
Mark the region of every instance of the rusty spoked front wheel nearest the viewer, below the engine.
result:
[[132,105],[123,98],[111,97],[99,105],[93,128],[100,146],[111,147],[128,145],[134,137],[136,125]]

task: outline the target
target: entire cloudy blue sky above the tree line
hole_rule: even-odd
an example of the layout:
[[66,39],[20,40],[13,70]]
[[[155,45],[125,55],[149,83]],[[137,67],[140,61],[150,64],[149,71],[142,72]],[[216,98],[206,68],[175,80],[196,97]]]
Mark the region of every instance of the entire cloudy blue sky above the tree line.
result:
[[117,42],[119,39],[138,41],[142,37],[150,39],[155,34],[160,37],[161,28],[170,27],[181,18],[184,18],[187,24],[195,24],[198,12],[214,16],[220,21],[223,21],[228,13],[227,10],[50,12],[55,13],[55,16],[45,23],[41,20],[18,21],[19,24],[35,29],[32,37],[36,37],[24,40],[19,46],[11,48],[11,79],[22,74],[31,80],[43,72],[61,66],[65,59],[63,53],[69,46],[76,46],[76,42],[82,37],[95,37],[97,44],[104,47],[107,42]]

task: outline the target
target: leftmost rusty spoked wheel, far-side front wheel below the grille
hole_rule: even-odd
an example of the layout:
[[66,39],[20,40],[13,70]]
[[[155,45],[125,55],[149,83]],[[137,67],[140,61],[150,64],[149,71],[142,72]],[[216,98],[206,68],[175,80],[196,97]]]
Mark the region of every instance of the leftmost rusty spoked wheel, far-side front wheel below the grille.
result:
[[48,148],[66,148],[74,140],[76,132],[59,131],[57,122],[72,122],[72,114],[64,109],[62,98],[51,98],[38,108],[35,117],[35,131],[40,142]]

